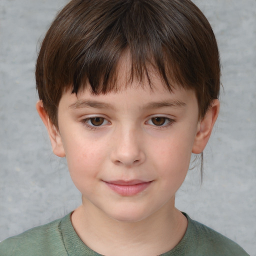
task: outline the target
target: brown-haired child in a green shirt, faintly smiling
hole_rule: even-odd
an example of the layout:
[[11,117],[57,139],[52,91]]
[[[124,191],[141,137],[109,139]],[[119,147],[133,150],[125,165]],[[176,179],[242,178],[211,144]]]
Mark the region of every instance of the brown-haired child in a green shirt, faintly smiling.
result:
[[248,255],[174,206],[219,111],[211,27],[189,0],[72,0],[36,64],[37,111],[82,205],[0,255]]

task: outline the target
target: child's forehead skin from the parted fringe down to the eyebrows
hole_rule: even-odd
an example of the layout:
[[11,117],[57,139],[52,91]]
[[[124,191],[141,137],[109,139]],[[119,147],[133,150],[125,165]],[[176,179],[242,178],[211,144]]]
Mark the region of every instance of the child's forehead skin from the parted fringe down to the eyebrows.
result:
[[172,84],[170,90],[152,65],[148,66],[141,77],[131,76],[131,68],[130,54],[125,52],[117,64],[115,84],[107,92],[94,93],[87,84],[77,93],[71,93],[69,88],[61,99],[63,101],[65,98],[69,102],[69,108],[111,108],[112,106],[113,109],[129,103],[140,108],[161,105],[178,107],[185,106],[185,102],[189,99],[195,99],[194,91],[181,85]]

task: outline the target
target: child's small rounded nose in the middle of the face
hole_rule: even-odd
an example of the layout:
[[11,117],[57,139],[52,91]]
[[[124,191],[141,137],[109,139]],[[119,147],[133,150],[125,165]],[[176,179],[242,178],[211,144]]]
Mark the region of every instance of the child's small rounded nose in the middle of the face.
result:
[[111,161],[126,167],[136,166],[144,162],[145,152],[141,134],[135,128],[125,128],[113,137]]

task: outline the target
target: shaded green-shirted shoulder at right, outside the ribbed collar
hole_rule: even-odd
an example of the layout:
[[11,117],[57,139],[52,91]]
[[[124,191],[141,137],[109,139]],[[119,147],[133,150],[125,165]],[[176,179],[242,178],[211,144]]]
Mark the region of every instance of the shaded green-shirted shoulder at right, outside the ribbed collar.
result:
[[[186,215],[186,214],[185,214]],[[214,256],[248,256],[248,254],[234,241],[226,236],[216,232],[212,228],[188,219],[188,230],[191,241],[196,245],[198,254],[196,255],[214,255]]]

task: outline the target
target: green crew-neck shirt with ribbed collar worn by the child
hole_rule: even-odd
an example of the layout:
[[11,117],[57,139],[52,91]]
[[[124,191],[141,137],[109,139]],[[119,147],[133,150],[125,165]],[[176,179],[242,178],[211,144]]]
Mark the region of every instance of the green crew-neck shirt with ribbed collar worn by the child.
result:
[[[70,214],[0,243],[0,256],[96,256],[76,234]],[[192,220],[181,241],[162,256],[248,256],[235,242]]]

